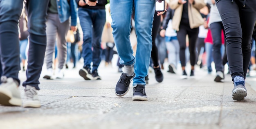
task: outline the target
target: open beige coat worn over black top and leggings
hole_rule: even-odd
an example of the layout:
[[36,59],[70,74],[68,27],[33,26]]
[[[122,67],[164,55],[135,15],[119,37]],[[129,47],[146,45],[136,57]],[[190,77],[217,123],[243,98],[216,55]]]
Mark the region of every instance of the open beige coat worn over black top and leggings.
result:
[[[204,20],[199,10],[202,9],[205,5],[206,3],[204,0],[194,0],[194,4],[188,3],[189,26],[191,29],[197,28],[204,24]],[[173,29],[179,31],[183,4],[178,4],[178,0],[170,0],[169,6],[171,9],[175,9],[172,23]]]

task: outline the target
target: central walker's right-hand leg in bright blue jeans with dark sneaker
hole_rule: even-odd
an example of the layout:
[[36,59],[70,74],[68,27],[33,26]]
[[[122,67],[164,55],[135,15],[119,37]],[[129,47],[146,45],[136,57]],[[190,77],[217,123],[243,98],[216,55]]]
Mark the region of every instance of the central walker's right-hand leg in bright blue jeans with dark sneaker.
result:
[[[147,8],[145,8],[145,6]],[[145,92],[145,76],[148,74],[152,50],[152,26],[155,13],[155,1],[135,0],[135,31],[137,34],[137,51],[135,78],[133,79],[132,100],[148,100]]]

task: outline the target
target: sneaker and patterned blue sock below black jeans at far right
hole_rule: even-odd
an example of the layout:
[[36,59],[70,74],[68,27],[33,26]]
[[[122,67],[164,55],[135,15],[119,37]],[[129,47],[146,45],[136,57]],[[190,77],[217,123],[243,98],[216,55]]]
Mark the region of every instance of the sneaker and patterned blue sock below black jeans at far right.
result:
[[232,91],[233,100],[244,100],[247,96],[247,90],[245,88],[245,79],[240,76],[234,78],[234,89]]

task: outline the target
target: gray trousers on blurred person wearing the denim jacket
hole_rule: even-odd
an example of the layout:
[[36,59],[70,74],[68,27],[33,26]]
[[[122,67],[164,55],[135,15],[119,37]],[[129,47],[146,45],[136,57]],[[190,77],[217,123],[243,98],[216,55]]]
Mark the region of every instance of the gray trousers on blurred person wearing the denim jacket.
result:
[[52,68],[53,53],[55,52],[55,42],[57,36],[57,58],[58,69],[63,69],[67,60],[67,42],[65,36],[69,30],[70,21],[61,23],[57,13],[48,13],[46,21],[47,45],[45,51],[45,64],[47,69]]

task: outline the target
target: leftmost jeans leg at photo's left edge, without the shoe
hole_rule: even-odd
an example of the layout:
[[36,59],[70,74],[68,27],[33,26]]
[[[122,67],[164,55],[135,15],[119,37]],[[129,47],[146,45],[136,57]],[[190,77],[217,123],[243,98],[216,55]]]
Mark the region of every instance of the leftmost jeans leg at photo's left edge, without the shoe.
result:
[[13,78],[20,83],[20,45],[18,20],[23,0],[0,0],[0,56],[1,76]]

